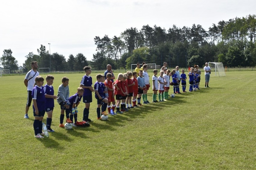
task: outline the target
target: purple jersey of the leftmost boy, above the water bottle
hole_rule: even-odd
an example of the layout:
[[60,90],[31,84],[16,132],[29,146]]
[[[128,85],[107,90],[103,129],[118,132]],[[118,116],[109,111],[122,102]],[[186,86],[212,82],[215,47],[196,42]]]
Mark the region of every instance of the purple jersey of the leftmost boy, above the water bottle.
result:
[[[38,111],[45,110],[45,96],[44,96],[44,87],[37,86],[32,89],[32,99],[36,99],[37,109]],[[33,104],[33,110],[35,112],[35,107]]]

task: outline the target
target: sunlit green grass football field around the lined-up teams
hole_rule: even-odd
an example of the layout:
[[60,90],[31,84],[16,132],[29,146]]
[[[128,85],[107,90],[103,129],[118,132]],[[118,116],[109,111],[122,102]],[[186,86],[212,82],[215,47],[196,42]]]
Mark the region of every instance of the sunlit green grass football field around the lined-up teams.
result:
[[[93,97],[89,118],[94,122],[88,128],[59,128],[55,101],[55,132],[44,139],[34,138],[32,107],[29,119],[23,118],[24,76],[2,77],[0,169],[255,169],[256,72],[226,74],[211,77],[211,88],[203,88],[202,78],[197,92],[109,116],[108,121],[96,119]],[[70,95],[83,75],[66,75]],[[57,94],[64,75],[53,76]],[[95,82],[96,74],[91,76]],[[148,98],[152,100],[152,90]],[[83,108],[81,103],[78,121]]]

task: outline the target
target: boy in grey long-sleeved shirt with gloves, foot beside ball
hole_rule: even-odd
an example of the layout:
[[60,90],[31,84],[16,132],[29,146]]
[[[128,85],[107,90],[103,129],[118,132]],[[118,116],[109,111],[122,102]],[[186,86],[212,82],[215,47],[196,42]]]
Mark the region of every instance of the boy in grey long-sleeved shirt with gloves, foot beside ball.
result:
[[66,122],[72,123],[69,119],[69,78],[63,77],[61,81],[62,84],[58,88],[57,102],[60,105],[59,127],[64,128],[64,111],[66,112]]

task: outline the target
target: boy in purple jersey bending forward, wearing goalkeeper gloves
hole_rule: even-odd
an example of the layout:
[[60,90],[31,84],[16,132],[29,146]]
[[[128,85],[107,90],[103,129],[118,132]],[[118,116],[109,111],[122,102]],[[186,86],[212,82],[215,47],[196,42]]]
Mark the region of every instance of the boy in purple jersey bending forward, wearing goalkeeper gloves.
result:
[[[75,118],[75,123],[77,122],[77,113],[78,113],[78,105],[81,101],[81,98],[84,94],[84,89],[82,87],[77,88],[77,93],[69,97],[69,113],[70,113],[70,120],[73,123],[73,117]],[[73,123],[73,126],[76,126],[75,123]]]

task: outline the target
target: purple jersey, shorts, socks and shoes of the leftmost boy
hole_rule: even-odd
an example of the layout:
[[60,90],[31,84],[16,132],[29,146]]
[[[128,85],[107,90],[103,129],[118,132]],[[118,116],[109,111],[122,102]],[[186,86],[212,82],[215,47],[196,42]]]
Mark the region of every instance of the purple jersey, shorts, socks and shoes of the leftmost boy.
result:
[[[35,117],[44,117],[45,113],[45,96],[44,96],[44,89],[43,86],[39,87],[35,85],[35,87],[32,89],[32,99],[36,100],[37,109],[38,109],[38,115],[35,114],[35,107],[33,104],[33,113]],[[34,120],[34,131],[35,131],[35,137],[38,135],[39,137],[42,134],[42,121]],[[43,134],[42,134],[43,135]],[[42,136],[40,138],[43,138]]]

